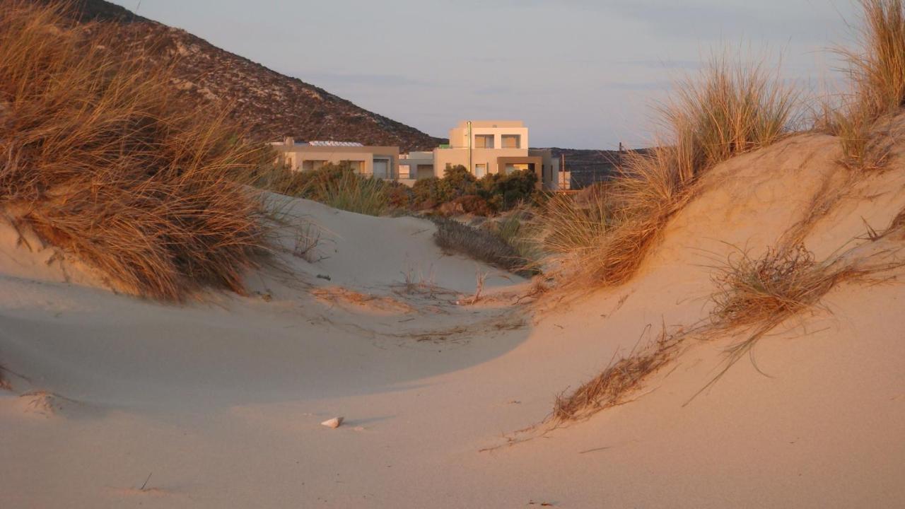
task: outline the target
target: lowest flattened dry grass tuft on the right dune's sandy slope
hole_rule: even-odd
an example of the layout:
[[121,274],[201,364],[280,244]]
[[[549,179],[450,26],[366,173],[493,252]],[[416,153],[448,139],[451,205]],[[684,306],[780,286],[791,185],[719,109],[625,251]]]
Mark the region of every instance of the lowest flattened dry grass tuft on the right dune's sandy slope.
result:
[[656,341],[643,351],[632,351],[620,360],[611,361],[594,379],[567,396],[559,395],[552,420],[566,422],[590,418],[605,408],[628,402],[627,397],[641,386],[643,379],[672,359],[680,342],[681,334],[668,334],[664,327]]

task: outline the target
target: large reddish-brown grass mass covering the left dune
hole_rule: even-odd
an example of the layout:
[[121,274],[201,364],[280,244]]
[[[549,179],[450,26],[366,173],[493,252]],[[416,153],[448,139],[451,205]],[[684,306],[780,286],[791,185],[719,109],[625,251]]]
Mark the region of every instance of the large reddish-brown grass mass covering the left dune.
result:
[[266,243],[260,203],[229,173],[255,149],[67,8],[0,0],[0,207],[120,290],[243,293]]

